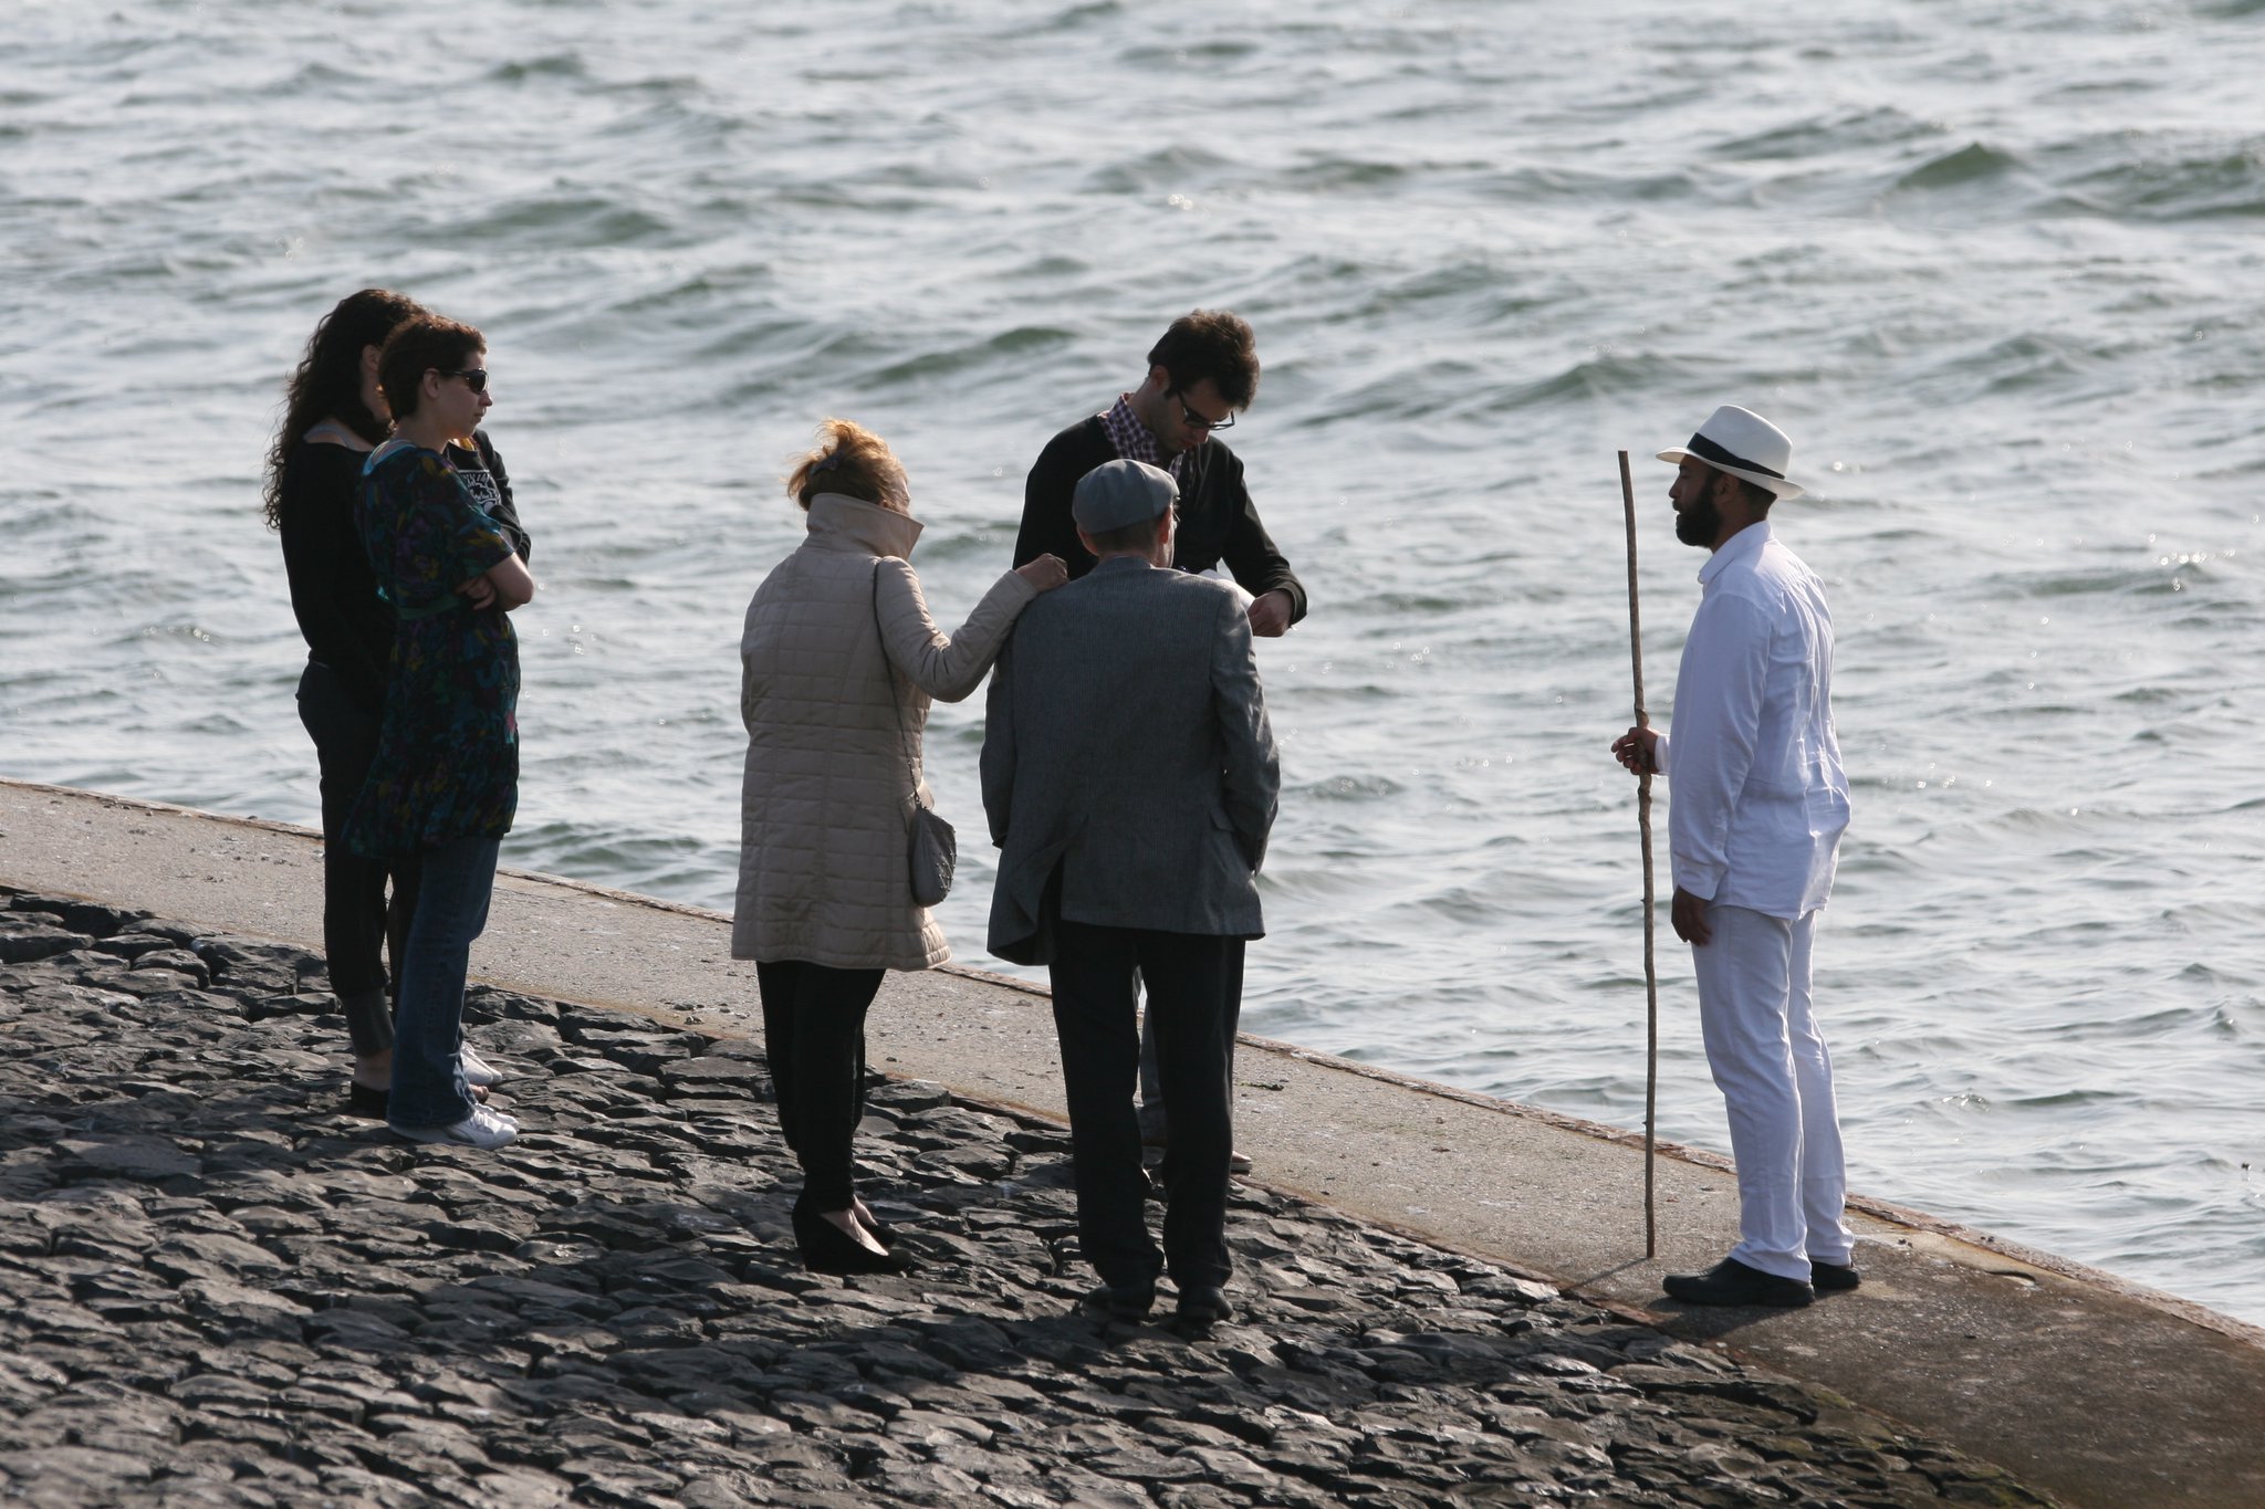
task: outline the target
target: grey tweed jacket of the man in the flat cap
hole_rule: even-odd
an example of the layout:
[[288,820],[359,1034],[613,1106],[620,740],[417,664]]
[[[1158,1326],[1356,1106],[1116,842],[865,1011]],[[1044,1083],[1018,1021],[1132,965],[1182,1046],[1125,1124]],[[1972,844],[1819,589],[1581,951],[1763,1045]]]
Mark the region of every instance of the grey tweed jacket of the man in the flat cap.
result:
[[1101,561],[1024,611],[992,672],[990,950],[1053,959],[1040,898],[1055,864],[1069,921],[1262,937],[1255,876],[1280,790],[1234,588]]

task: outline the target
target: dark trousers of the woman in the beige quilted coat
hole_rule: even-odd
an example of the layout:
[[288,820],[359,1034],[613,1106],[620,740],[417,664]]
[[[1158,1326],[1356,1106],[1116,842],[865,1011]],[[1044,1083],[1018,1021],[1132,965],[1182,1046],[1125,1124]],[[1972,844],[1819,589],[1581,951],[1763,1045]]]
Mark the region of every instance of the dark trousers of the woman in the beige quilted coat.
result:
[[802,1210],[847,1210],[856,1199],[849,1142],[865,1120],[865,1011],[881,973],[806,959],[754,966],[779,1131],[802,1163]]

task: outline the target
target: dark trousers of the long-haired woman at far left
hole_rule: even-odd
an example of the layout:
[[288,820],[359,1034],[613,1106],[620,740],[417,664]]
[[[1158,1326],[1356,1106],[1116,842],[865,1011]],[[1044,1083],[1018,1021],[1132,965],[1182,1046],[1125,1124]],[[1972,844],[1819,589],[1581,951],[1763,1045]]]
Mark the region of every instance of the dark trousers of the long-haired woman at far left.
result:
[[[331,989],[347,1009],[353,1052],[378,1054],[394,1045],[385,1002],[387,934],[399,982],[408,919],[417,912],[417,860],[365,860],[340,839],[378,753],[378,719],[358,708],[337,672],[319,661],[308,661],[299,674],[299,722],[322,767],[322,950]],[[392,928],[387,880],[394,887]]]

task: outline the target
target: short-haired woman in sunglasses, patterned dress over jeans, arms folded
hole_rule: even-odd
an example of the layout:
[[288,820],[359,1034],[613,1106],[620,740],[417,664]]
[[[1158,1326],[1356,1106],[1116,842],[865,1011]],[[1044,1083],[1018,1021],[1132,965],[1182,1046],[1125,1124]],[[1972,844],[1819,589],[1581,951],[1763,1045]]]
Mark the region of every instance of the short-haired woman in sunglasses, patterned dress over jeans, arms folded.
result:
[[394,609],[394,649],[344,839],[419,869],[387,1124],[417,1142],[503,1147],[519,1122],[473,1097],[462,1016],[496,848],[519,808],[519,643],[505,613],[535,597],[535,577],[448,462],[448,441],[494,403],[485,353],[478,330],[437,314],[408,319],[378,353],[394,434],[362,464],[353,518]]

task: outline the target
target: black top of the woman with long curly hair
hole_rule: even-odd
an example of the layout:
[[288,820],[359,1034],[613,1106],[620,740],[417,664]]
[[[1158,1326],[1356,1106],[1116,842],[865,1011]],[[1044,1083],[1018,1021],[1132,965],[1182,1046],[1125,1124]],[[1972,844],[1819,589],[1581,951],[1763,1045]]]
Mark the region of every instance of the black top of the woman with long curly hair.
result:
[[[485,430],[473,432],[478,452],[448,448],[448,464],[473,486],[478,473],[494,480],[485,498],[489,518],[503,529],[519,559],[532,550],[512,507],[512,480]],[[394,611],[378,597],[378,579],[353,529],[353,495],[362,486],[365,450],[328,441],[299,441],[283,462],[281,532],[283,572],[290,577],[290,611],[306,640],[306,658],[328,665],[353,706],[369,717],[385,713],[385,674],[394,654]],[[482,498],[487,489],[473,486]]]

